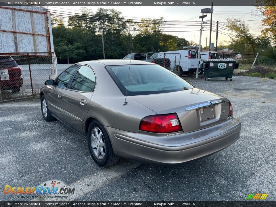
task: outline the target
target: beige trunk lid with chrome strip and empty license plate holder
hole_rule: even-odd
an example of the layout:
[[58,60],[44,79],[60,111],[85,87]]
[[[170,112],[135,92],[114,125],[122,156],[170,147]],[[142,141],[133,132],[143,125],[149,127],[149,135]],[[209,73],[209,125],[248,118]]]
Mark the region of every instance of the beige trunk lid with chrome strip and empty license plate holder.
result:
[[177,113],[185,133],[224,122],[229,113],[228,99],[198,88],[129,98],[156,114]]

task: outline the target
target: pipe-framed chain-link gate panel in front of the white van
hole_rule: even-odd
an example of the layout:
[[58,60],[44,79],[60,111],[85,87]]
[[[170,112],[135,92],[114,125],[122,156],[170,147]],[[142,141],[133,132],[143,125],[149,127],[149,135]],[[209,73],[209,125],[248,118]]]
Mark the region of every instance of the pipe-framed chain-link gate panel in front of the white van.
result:
[[176,73],[181,55],[179,53],[147,53],[147,62],[153,62]]

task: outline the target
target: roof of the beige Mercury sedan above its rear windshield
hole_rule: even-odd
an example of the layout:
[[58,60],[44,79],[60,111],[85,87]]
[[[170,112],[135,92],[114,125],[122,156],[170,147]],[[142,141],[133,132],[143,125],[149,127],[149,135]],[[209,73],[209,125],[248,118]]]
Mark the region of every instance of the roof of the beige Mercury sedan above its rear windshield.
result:
[[110,65],[145,65],[145,64],[154,64],[151,62],[145,62],[141,60],[123,60],[123,59],[109,59],[109,60],[91,60],[91,61],[84,61],[84,62],[79,62],[78,64],[93,64],[93,63],[101,63],[106,66]]

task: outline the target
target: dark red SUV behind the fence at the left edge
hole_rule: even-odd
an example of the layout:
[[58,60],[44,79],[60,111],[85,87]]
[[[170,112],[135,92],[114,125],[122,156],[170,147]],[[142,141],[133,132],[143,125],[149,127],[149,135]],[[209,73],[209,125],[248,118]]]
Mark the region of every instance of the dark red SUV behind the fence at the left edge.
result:
[[[7,69],[8,74],[3,71],[5,69]],[[11,90],[13,93],[19,92],[20,87],[22,87],[23,85],[21,70],[22,69],[20,68],[20,66],[11,56],[0,56],[0,88],[2,90]],[[7,78],[9,80],[3,80],[4,78]]]

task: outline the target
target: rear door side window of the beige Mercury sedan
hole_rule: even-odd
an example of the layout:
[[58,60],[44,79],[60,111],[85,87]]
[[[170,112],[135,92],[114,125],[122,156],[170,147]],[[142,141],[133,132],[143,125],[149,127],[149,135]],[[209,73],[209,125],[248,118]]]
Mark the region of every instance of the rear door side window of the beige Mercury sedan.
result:
[[76,72],[70,89],[83,92],[93,92],[95,80],[96,77],[93,70],[90,67],[83,65],[78,69],[78,72]]

